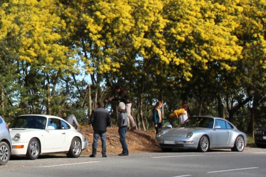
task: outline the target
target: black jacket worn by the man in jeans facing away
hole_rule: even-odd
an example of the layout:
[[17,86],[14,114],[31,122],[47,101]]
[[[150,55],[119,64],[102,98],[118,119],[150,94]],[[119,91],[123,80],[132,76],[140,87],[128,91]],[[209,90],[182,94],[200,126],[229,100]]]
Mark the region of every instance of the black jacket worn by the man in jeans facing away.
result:
[[91,113],[90,121],[95,132],[107,132],[107,127],[111,125],[109,111],[103,107],[94,109]]

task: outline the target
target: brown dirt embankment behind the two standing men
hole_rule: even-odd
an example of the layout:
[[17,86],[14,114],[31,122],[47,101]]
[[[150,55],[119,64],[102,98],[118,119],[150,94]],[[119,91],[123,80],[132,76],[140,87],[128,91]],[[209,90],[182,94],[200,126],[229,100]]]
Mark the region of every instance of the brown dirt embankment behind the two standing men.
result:
[[[79,132],[85,135],[86,139],[93,143],[93,129],[89,126],[79,127]],[[155,130],[152,131],[127,131],[126,142],[129,153],[134,152],[155,152],[161,149],[155,145]],[[101,154],[102,142],[99,138],[97,153]],[[122,146],[119,141],[118,127],[108,127],[106,132],[106,153],[117,154],[122,152]],[[91,154],[92,147],[88,146],[83,150],[83,154]]]

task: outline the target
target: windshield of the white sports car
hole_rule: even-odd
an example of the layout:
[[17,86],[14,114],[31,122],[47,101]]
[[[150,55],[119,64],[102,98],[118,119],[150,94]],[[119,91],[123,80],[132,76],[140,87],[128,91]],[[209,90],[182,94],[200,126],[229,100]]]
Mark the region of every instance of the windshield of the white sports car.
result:
[[42,116],[19,116],[9,128],[36,128],[45,129],[46,117]]

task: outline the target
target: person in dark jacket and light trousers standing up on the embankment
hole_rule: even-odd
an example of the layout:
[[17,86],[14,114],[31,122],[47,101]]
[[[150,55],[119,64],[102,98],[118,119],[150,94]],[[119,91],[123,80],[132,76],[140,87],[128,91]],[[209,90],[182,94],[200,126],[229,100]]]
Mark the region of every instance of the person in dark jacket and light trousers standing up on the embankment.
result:
[[132,126],[132,129],[131,130],[134,130],[136,127],[135,127],[135,121],[134,121],[134,118],[131,116],[131,100],[128,96],[128,93],[127,91],[124,89],[124,88],[121,88],[119,85],[116,85],[116,92],[118,92],[120,98],[114,98],[114,97],[110,97],[109,98],[109,101],[121,101],[123,103],[125,103],[126,105],[126,112],[127,112],[127,121],[129,122],[129,120],[131,121],[131,126]]

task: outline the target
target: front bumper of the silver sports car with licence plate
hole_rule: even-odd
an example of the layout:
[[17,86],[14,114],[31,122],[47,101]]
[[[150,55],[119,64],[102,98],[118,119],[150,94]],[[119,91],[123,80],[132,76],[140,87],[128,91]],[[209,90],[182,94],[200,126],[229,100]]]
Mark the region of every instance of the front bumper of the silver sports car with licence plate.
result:
[[157,138],[156,144],[160,148],[172,148],[172,149],[197,149],[199,139],[188,139],[188,138],[176,138],[163,137]]

